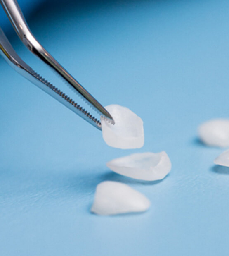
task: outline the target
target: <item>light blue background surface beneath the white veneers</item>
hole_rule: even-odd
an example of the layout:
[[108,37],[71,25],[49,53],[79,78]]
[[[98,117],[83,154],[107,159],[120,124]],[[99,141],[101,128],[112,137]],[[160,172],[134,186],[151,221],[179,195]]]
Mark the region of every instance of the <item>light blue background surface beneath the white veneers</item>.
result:
[[[196,129],[229,116],[229,1],[26,3],[35,36],[93,96],[142,117],[145,145],[110,148],[0,59],[0,255],[228,255],[229,170],[214,166],[223,150],[201,144]],[[58,87],[2,15],[17,53]],[[105,165],[163,150],[172,162],[163,181],[139,182]],[[104,180],[141,191],[150,210],[91,214]]]

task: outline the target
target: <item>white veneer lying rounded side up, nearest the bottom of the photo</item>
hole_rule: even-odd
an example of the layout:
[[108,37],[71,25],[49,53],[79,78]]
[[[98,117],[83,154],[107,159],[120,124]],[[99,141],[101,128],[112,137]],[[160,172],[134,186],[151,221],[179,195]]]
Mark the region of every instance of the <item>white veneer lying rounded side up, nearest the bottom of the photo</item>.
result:
[[149,199],[130,186],[105,181],[97,185],[91,211],[99,215],[114,215],[143,212],[149,206]]

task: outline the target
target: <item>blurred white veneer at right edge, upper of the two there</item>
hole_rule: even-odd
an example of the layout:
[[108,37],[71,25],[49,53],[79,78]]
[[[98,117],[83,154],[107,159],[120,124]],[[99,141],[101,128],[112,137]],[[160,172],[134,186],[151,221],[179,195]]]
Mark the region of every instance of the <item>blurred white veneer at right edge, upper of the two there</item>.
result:
[[200,125],[199,138],[208,146],[229,146],[229,119],[213,119]]

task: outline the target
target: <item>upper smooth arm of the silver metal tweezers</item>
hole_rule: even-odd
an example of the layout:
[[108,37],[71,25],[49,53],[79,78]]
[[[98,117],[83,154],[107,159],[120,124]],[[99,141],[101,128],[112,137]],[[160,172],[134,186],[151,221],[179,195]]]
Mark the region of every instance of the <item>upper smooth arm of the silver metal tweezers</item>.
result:
[[22,14],[20,7],[16,0],[0,0],[0,3],[9,17],[12,26],[17,32],[21,41],[26,47],[35,55],[37,55],[42,61],[54,69],[58,74],[63,77],[67,83],[77,91],[83,98],[87,100],[93,108],[95,108],[100,115],[108,118],[113,123],[113,118],[106,111],[106,109],[87,91],[80,85],[71,74],[69,74],[64,67],[62,67],[45,48],[33,36],[32,32],[28,28],[24,15]]

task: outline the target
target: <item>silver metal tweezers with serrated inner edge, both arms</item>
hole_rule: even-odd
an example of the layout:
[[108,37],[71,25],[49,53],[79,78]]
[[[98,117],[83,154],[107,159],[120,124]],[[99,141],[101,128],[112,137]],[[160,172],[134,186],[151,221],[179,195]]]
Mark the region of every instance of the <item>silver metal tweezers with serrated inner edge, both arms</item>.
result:
[[[17,35],[24,43],[24,45],[35,54],[40,60],[45,62],[49,67],[54,69],[67,84],[81,96],[100,116],[114,124],[114,120],[109,112],[87,91],[82,85],[69,74],[64,67],[62,67],[57,60],[55,60],[45,48],[40,45],[36,38],[31,33],[23,13],[16,0],[0,0],[0,3],[5,10],[12,26]],[[85,119],[90,124],[101,130],[100,120],[92,116],[87,110],[78,105],[75,101],[69,98],[64,92],[41,77],[30,66],[28,66],[14,51],[12,45],[9,43],[4,32],[0,28],[0,55],[13,67],[19,74],[38,86],[40,89],[48,93],[50,96],[58,100],[67,108],[75,112],[77,115]]]

